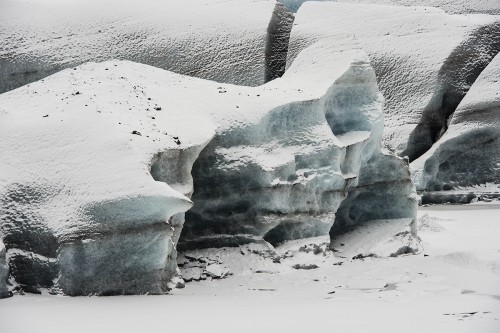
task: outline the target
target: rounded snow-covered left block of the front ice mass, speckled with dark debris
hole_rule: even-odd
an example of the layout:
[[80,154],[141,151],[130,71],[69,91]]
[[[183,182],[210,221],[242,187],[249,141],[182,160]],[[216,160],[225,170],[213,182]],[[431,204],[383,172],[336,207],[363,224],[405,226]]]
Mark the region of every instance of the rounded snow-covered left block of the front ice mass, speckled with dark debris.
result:
[[179,192],[213,135],[196,110],[166,107],[168,84],[162,70],[108,62],[0,95],[0,227],[23,289],[167,290],[182,220],[167,221],[191,207]]

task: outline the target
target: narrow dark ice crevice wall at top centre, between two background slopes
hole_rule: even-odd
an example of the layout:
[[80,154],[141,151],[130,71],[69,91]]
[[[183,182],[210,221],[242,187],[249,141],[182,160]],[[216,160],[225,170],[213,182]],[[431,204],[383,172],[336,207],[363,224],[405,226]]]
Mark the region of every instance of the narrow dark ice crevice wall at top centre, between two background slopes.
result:
[[269,26],[266,41],[265,82],[281,77],[286,69],[286,57],[294,15],[281,3],[276,3]]

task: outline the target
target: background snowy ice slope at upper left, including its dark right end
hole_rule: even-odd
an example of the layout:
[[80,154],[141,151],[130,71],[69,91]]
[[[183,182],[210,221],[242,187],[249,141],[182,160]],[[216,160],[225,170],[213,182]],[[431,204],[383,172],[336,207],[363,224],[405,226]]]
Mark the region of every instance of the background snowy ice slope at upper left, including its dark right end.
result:
[[291,23],[273,0],[4,0],[0,93],[110,59],[259,85],[284,71]]

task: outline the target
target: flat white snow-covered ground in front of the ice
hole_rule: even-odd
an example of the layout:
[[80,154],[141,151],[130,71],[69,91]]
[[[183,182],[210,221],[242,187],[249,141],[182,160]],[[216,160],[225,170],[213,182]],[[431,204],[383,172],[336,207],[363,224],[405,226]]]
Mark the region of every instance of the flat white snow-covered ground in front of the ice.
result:
[[[0,331],[499,332],[499,214],[497,201],[421,207],[417,255],[352,260],[325,254],[327,240],[315,238],[278,248],[281,263],[219,249],[216,260],[234,275],[166,296],[3,299]],[[243,255],[260,268],[239,268]]]

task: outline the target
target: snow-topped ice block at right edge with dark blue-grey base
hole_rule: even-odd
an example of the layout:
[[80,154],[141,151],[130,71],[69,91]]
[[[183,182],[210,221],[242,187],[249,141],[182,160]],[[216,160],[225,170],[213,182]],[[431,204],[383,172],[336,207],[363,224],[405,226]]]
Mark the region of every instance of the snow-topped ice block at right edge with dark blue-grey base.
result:
[[500,192],[500,55],[474,82],[448,131],[411,168],[422,191]]

